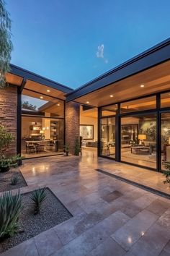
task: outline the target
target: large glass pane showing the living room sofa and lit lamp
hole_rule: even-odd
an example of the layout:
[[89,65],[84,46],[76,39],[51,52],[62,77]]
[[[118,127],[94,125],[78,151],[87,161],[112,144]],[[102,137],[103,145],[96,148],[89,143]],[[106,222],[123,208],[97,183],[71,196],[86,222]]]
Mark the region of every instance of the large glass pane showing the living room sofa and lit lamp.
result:
[[156,114],[121,118],[121,160],[156,168]]

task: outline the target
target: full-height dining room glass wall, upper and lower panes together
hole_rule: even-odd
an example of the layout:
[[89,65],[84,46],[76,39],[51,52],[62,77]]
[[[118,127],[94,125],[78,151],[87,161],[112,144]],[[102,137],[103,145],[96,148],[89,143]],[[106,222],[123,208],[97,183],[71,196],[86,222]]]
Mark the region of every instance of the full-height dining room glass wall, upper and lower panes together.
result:
[[23,90],[22,155],[26,158],[63,152],[64,101]]

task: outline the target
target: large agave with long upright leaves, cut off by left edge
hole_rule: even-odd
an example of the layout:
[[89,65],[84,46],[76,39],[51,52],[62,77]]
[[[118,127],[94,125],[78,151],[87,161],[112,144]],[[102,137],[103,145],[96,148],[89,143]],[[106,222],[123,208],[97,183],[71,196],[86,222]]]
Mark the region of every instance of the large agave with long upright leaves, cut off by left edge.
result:
[[22,198],[18,192],[4,192],[0,197],[0,239],[13,236],[19,228],[19,214],[22,210]]

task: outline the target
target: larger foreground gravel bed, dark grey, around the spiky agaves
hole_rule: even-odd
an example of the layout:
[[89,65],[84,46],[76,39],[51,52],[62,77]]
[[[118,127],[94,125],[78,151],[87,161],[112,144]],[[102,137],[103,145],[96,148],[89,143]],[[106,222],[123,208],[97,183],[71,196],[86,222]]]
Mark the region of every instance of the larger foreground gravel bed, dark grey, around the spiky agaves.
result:
[[47,198],[42,204],[40,214],[37,215],[33,213],[31,193],[22,195],[24,209],[19,217],[19,231],[21,232],[0,242],[0,253],[72,217],[50,189],[47,188],[46,193]]

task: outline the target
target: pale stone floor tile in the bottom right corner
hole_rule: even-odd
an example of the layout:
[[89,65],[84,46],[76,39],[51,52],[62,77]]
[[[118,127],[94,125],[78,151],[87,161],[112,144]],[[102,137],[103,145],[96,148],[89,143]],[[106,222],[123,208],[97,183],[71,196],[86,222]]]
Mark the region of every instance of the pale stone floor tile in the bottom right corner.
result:
[[170,230],[154,223],[130,252],[138,256],[158,256],[170,239]]

